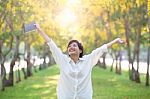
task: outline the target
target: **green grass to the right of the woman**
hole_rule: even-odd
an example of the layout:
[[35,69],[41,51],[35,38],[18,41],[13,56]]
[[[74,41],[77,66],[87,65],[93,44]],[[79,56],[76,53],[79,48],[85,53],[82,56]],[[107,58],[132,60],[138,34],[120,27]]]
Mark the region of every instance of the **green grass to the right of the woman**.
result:
[[150,87],[130,81],[124,72],[116,75],[95,68],[92,76],[93,99],[150,99]]

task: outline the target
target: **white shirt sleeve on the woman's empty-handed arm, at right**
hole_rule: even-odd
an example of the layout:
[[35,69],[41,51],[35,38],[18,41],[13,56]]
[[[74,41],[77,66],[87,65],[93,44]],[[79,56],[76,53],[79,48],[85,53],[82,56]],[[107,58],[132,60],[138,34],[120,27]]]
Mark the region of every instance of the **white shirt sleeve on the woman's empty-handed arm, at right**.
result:
[[102,45],[101,47],[95,49],[92,51],[92,53],[89,55],[92,66],[95,66],[99,60],[99,58],[104,54],[108,52],[107,44]]

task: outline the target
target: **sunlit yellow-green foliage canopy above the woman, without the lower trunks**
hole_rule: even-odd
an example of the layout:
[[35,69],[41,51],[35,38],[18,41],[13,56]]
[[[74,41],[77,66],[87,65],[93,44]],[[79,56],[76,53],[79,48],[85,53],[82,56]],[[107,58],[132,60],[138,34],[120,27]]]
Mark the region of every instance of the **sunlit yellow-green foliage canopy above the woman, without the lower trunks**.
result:
[[[1,0],[0,38],[11,31],[11,23],[12,34],[20,35],[21,41],[30,42],[33,48],[42,46],[44,39],[36,32],[22,35],[23,23],[35,20],[63,51],[70,39],[78,39],[89,53],[115,37],[125,39],[124,21],[128,19],[129,40],[134,47],[137,25],[141,26],[141,36],[147,27],[146,9],[144,0]],[[3,39],[9,40],[6,36]],[[120,48],[117,45],[113,49]]]

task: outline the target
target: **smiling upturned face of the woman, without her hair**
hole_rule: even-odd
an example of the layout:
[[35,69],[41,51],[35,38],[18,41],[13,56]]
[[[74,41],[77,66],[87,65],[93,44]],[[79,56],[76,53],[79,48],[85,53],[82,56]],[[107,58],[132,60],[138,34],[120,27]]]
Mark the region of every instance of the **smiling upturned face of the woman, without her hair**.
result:
[[72,56],[72,55],[78,55],[78,56],[79,56],[80,53],[82,52],[82,51],[79,49],[78,44],[77,44],[76,42],[71,43],[71,44],[68,46],[67,51],[68,51],[68,54],[69,54],[70,56]]

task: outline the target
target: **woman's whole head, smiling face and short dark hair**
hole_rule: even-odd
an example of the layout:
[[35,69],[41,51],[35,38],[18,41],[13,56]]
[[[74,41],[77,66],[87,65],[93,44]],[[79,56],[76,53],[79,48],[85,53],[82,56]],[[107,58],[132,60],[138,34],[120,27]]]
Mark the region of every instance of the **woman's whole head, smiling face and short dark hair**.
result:
[[78,54],[80,58],[83,56],[83,46],[77,40],[71,40],[68,43],[67,51],[68,51],[69,56],[75,55],[75,54]]

